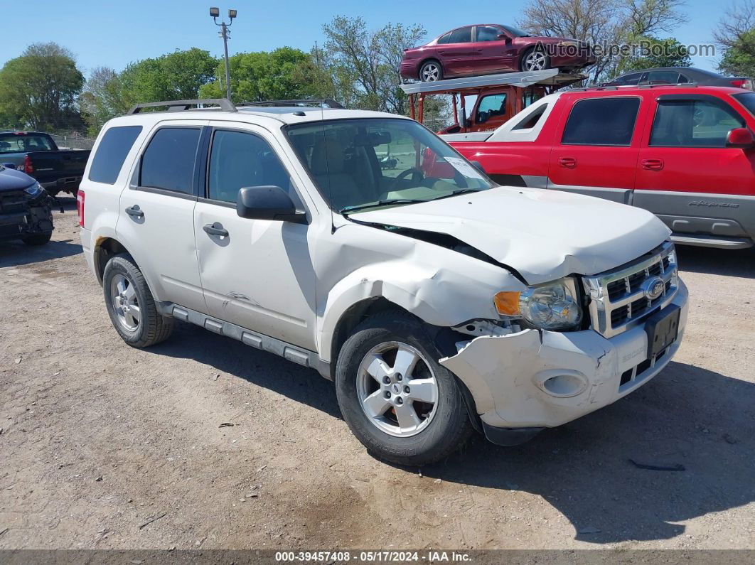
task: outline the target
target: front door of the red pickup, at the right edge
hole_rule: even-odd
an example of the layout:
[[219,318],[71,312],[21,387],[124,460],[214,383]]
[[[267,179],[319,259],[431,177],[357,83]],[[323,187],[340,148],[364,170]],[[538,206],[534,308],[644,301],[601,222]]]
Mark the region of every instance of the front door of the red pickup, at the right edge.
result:
[[755,235],[755,152],[726,147],[752,118],[725,98],[663,94],[653,100],[639,150],[634,205],[677,234]]

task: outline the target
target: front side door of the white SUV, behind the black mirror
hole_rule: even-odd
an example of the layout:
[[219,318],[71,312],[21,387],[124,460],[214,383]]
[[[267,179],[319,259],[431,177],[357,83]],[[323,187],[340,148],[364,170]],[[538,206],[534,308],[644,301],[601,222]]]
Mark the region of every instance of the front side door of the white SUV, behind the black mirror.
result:
[[308,226],[236,213],[236,195],[245,186],[280,186],[300,205],[278,149],[260,127],[215,125],[205,198],[194,212],[199,272],[214,317],[315,349],[316,281]]

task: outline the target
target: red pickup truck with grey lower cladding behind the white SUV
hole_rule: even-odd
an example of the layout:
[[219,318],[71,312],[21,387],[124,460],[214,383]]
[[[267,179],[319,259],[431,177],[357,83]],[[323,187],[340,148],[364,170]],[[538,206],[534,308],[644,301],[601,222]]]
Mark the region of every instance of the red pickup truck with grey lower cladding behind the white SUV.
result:
[[755,241],[755,92],[694,85],[550,94],[493,132],[444,135],[493,180],[657,214],[679,243]]

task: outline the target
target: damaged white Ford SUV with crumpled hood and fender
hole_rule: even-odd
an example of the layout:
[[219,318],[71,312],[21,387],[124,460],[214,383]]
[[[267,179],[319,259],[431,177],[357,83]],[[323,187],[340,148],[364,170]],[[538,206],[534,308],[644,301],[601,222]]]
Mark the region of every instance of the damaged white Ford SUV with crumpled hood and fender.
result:
[[397,115],[160,104],[103,127],[79,189],[129,345],[177,318],[313,367],[371,453],[412,465],[611,404],[679,347],[687,291],[645,210],[495,186]]

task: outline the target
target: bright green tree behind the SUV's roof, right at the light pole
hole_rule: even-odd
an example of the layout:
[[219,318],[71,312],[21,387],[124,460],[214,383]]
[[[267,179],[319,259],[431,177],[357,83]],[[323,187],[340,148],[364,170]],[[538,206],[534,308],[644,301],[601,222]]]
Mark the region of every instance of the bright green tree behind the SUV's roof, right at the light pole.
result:
[[[234,102],[289,100],[316,94],[313,84],[305,81],[309,57],[290,47],[275,51],[239,53],[229,57],[231,97]],[[201,98],[225,98],[226,69],[223,60],[214,69],[214,81],[199,90]]]

